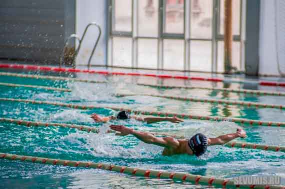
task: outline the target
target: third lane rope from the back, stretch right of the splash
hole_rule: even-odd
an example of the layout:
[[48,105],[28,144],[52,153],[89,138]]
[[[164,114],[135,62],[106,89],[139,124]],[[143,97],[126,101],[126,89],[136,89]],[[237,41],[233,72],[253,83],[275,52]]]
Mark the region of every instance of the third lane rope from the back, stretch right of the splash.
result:
[[159,97],[159,98],[167,98],[173,100],[182,100],[182,101],[191,101],[191,102],[202,102],[202,103],[210,103],[210,104],[226,104],[226,105],[240,105],[246,107],[254,107],[254,108],[274,108],[274,109],[285,109],[285,106],[278,105],[278,104],[264,104],[264,103],[257,103],[257,102],[246,102],[246,101],[237,101],[237,100],[216,100],[216,99],[206,99],[206,98],[196,98],[196,97],[178,97],[178,96],[167,96],[167,95],[154,95],[154,94],[116,94],[117,96],[152,96],[152,97]]

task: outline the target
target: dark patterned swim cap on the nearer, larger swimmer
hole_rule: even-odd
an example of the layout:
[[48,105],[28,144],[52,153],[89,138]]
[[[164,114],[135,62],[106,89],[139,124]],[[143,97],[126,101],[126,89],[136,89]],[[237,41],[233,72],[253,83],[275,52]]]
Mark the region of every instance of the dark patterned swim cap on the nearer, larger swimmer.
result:
[[193,154],[199,157],[207,150],[207,137],[201,133],[195,134],[190,140],[188,140],[188,146],[193,151]]

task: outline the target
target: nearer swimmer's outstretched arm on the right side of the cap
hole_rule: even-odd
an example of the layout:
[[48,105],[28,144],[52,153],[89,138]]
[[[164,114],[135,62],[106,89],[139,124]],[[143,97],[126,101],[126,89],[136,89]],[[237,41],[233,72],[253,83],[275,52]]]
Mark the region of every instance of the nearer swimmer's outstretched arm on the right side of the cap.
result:
[[221,135],[216,138],[208,138],[208,145],[223,145],[236,138],[246,137],[246,132],[242,129],[237,129],[235,133]]

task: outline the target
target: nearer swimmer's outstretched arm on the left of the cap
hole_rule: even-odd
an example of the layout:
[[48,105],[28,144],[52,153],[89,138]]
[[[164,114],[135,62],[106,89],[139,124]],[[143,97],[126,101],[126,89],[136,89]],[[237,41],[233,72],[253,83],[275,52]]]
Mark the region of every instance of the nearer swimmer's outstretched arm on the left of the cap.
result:
[[163,137],[163,138],[155,137],[154,135],[150,133],[142,132],[142,131],[135,131],[132,128],[124,127],[122,125],[111,125],[110,128],[114,131],[120,132],[116,135],[120,135],[120,136],[133,135],[140,141],[145,142],[147,144],[154,144],[154,145],[166,147],[166,148],[171,148],[171,147],[175,148],[179,146],[179,142],[172,137]]

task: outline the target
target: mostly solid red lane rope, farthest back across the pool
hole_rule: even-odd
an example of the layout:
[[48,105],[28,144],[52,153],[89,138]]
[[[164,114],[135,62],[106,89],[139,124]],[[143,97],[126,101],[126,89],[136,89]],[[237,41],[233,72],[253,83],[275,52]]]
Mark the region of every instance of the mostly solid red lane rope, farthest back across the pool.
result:
[[[103,75],[146,76],[146,77],[156,77],[161,79],[170,78],[170,79],[186,79],[186,80],[199,80],[199,81],[211,81],[211,82],[245,83],[245,81],[233,81],[216,77],[198,77],[198,76],[169,75],[169,74],[146,74],[146,73],[136,73],[136,72],[115,72],[115,71],[106,71],[106,70],[85,70],[85,69],[58,68],[58,67],[35,66],[35,65],[24,65],[24,64],[0,64],[0,68],[53,71],[53,72],[81,72],[81,73],[92,73],[92,74],[103,74]],[[250,81],[250,82],[259,85],[285,87],[285,82],[276,82],[276,81]]]

